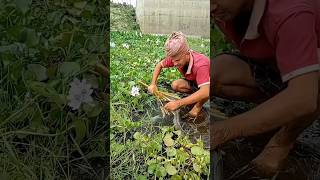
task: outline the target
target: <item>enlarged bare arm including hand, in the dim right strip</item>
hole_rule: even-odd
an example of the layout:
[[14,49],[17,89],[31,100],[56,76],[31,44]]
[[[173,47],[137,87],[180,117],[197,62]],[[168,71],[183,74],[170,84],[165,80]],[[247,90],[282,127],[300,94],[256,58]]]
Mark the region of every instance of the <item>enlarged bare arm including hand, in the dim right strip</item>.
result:
[[314,114],[318,108],[318,81],[318,72],[293,78],[285,90],[255,109],[212,124],[213,148],[230,139],[261,134]]

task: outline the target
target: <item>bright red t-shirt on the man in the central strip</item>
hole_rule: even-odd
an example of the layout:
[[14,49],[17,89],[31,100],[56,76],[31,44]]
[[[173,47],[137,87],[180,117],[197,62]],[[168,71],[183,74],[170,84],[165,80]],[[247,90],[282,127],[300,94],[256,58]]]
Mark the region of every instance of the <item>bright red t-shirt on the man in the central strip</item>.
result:
[[[179,67],[178,70],[187,80],[196,82],[199,88],[210,84],[209,58],[195,51],[191,51],[191,55],[187,72],[183,70],[183,67]],[[166,57],[162,60],[161,65],[163,68],[174,67],[171,57]]]

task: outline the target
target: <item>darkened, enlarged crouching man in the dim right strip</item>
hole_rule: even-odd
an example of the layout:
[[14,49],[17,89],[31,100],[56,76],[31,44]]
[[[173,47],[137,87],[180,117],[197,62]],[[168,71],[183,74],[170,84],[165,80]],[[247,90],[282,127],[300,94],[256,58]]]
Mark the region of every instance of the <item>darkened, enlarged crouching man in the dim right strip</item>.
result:
[[319,115],[320,1],[214,0],[210,11],[239,50],[214,59],[212,94],[259,104],[211,124],[211,148],[275,130],[252,161],[256,170],[274,174]]

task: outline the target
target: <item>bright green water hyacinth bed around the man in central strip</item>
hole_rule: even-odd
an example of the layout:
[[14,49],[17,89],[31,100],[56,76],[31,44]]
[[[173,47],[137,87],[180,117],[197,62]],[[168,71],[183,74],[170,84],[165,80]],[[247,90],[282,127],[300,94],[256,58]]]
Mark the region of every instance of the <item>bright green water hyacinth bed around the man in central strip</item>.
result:
[[[168,115],[163,105],[180,97],[169,92],[180,78],[175,69],[159,77],[159,91],[147,92],[154,65],[164,58],[167,36],[111,32],[111,177],[113,179],[208,179],[209,152],[173,126],[155,126],[152,117]],[[190,38],[194,50],[209,54],[209,41]],[[201,44],[203,44],[201,46]],[[157,101],[160,106],[157,105]],[[162,110],[161,110],[162,109]]]

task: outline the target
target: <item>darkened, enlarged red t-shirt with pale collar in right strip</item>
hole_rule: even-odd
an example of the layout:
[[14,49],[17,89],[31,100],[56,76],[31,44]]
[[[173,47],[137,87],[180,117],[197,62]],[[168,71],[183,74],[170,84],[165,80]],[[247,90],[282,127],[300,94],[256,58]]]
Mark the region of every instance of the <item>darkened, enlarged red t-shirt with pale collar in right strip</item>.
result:
[[216,24],[243,55],[275,62],[283,82],[320,69],[319,0],[255,1],[244,36],[232,22]]

